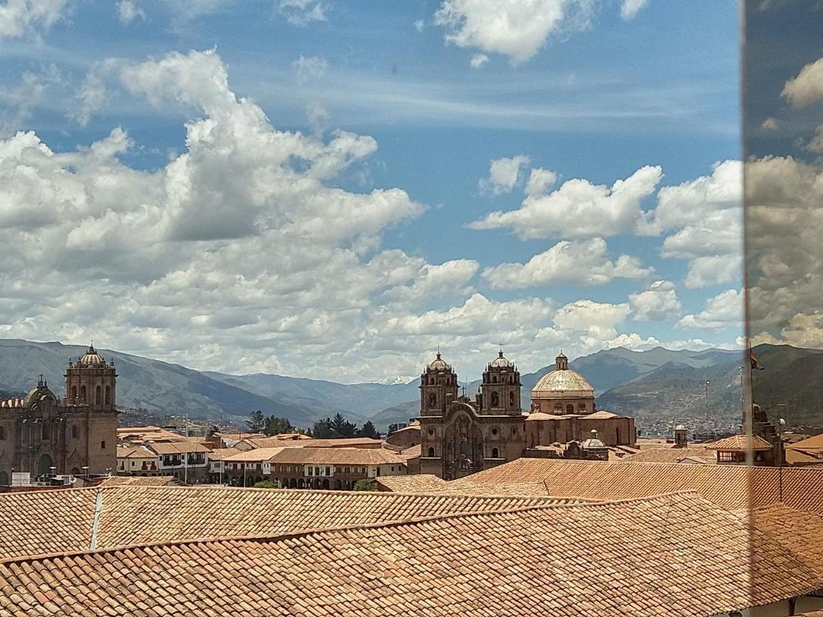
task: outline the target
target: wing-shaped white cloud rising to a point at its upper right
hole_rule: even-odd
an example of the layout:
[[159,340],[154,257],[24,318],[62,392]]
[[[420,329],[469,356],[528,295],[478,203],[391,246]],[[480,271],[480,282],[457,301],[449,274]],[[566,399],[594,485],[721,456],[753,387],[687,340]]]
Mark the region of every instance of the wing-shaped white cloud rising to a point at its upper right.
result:
[[647,165],[611,187],[566,180],[546,195],[528,195],[518,210],[491,212],[474,230],[510,227],[522,239],[595,238],[633,233],[644,217],[641,202],[654,192],[663,170]]

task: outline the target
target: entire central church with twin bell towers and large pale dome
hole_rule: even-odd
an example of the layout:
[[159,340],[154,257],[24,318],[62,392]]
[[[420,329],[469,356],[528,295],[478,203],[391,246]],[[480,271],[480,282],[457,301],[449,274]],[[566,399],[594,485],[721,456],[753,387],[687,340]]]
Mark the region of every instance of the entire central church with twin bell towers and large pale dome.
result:
[[523,456],[547,455],[545,447],[574,443],[579,450],[593,437],[603,448],[634,447],[634,418],[597,411],[593,387],[569,369],[565,355],[555,364],[532,389],[526,414],[520,373],[502,350],[486,366],[473,399],[458,394],[458,375],[438,352],[421,374],[420,472],[454,480]]

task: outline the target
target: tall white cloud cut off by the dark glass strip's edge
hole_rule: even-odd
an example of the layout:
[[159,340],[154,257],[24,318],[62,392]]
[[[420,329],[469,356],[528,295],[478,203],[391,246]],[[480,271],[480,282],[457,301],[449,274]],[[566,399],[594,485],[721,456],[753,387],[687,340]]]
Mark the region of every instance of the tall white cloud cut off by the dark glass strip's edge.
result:
[[727,160],[712,174],[658,191],[649,230],[673,232],[661,255],[689,260],[686,286],[717,285],[742,275],[742,163]]

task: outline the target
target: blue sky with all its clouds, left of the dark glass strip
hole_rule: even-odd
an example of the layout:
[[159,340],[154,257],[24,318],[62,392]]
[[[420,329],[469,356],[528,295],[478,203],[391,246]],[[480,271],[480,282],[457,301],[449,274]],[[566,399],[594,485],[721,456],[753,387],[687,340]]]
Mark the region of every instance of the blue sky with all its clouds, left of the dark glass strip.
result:
[[0,336],[338,381],[737,344],[735,2],[379,8],[0,2]]

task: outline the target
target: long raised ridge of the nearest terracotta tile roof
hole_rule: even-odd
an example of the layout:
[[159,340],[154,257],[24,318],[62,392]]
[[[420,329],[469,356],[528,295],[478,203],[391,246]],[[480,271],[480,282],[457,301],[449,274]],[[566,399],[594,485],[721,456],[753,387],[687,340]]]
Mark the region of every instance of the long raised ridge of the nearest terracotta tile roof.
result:
[[[100,549],[100,550],[72,550],[72,551],[64,551],[58,553],[42,553],[42,554],[33,554],[33,555],[17,555],[16,557],[7,557],[0,559],[0,564],[14,564],[14,563],[24,563],[28,561],[40,561],[42,559],[60,559],[60,558],[69,558],[69,557],[76,557],[82,555],[90,555],[90,554],[109,554],[114,553],[115,551],[124,551],[124,550],[136,550],[136,549],[151,549],[154,547],[161,547],[161,546],[182,546],[182,545],[198,545],[198,544],[207,544],[210,542],[230,542],[230,541],[239,541],[239,542],[265,542],[265,541],[281,541],[281,540],[288,540],[291,538],[299,538],[304,536],[312,536],[312,535],[319,535],[323,533],[329,533],[332,531],[360,531],[365,529],[380,529],[383,527],[401,527],[403,525],[418,525],[424,522],[432,522],[432,521],[446,521],[453,518],[463,518],[463,517],[479,517],[479,516],[498,516],[503,514],[511,514],[511,513],[521,513],[521,512],[532,512],[534,510],[552,510],[552,509],[570,509],[570,508],[592,508],[593,506],[612,506],[621,503],[637,503],[637,502],[648,502],[653,499],[661,499],[663,497],[670,497],[677,494],[694,494],[699,499],[706,501],[707,503],[712,503],[709,499],[705,499],[701,497],[696,491],[673,491],[671,493],[662,493],[656,495],[649,495],[647,497],[639,497],[634,499],[616,499],[615,501],[600,501],[597,503],[558,503],[558,504],[545,504],[545,505],[533,505],[533,506],[522,506],[519,508],[506,508],[504,510],[494,510],[494,511],[473,511],[473,512],[462,512],[462,513],[449,513],[449,514],[441,514],[437,516],[430,516],[430,517],[414,517],[414,518],[407,518],[407,519],[399,519],[394,521],[383,521],[383,522],[374,522],[374,523],[361,523],[359,525],[342,525],[337,527],[319,527],[314,529],[303,529],[298,531],[289,531],[286,533],[277,534],[274,536],[214,536],[214,537],[205,537],[205,538],[189,538],[184,540],[167,540],[165,542],[150,542],[150,543],[142,543],[142,544],[131,544],[131,545],[120,545],[120,546],[113,546],[107,549]],[[714,506],[714,503],[712,503]]]

